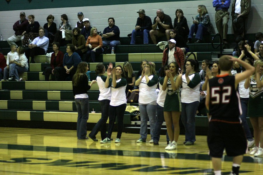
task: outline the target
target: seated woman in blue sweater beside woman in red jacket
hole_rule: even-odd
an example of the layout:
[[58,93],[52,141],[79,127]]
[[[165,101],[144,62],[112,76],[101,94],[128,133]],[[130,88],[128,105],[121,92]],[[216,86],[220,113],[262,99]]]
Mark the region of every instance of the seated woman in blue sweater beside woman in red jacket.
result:
[[64,58],[63,58],[63,71],[61,71],[60,78],[66,81],[72,81],[73,75],[76,73],[77,66],[81,61],[79,54],[75,52],[73,44],[67,44]]

